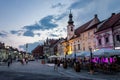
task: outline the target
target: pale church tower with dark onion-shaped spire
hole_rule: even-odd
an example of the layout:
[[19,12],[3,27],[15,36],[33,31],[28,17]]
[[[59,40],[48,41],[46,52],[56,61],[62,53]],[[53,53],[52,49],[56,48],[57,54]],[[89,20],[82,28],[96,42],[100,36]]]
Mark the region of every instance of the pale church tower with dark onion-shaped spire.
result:
[[69,40],[70,38],[72,38],[74,36],[74,21],[72,20],[72,13],[70,10],[70,14],[69,14],[69,21],[68,21],[68,26],[67,26],[67,40]]

